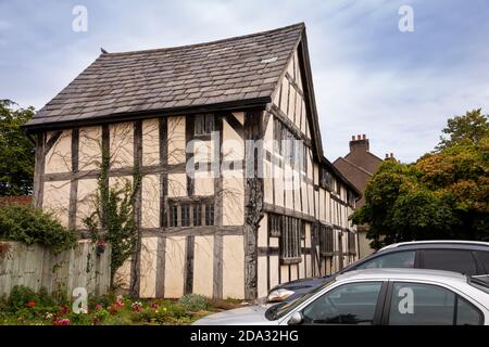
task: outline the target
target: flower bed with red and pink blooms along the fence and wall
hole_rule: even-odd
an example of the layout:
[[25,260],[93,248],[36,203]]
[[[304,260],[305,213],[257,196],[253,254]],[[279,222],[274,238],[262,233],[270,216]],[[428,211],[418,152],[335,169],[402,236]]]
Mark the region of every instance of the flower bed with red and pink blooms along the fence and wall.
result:
[[195,320],[239,307],[240,300],[214,300],[200,295],[171,299],[133,299],[106,295],[90,297],[87,313],[72,311],[63,295],[48,295],[16,286],[0,298],[0,324],[8,325],[159,325],[190,324]]

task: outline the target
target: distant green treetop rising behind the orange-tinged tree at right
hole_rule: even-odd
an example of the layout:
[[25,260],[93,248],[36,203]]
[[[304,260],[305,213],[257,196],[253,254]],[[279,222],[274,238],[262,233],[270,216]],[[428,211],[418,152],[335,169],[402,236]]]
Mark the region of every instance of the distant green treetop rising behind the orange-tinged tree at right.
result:
[[440,137],[437,151],[466,140],[478,143],[489,133],[488,115],[482,115],[480,108],[466,112],[464,116],[449,118],[447,127],[441,131],[444,136]]

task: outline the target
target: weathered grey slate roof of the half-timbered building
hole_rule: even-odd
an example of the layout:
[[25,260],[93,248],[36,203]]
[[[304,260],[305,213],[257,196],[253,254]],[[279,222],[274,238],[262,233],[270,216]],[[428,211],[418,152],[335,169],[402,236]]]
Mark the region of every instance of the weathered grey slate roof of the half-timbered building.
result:
[[303,30],[300,23],[208,43],[102,53],[27,128],[267,100]]

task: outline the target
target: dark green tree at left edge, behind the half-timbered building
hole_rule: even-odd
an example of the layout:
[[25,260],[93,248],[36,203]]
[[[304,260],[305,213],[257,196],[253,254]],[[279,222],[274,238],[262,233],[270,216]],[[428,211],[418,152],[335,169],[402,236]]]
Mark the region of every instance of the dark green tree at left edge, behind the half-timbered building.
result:
[[33,191],[34,145],[21,127],[34,108],[14,110],[15,103],[0,100],[0,195],[25,195]]

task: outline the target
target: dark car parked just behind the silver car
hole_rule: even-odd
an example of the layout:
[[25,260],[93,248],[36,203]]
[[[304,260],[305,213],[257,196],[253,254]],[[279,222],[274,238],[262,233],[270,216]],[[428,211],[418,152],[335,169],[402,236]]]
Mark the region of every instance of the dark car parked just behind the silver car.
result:
[[[373,268],[415,268],[461,272],[467,275],[489,273],[489,243],[477,241],[415,241],[397,243],[354,262],[337,275]],[[289,301],[319,286],[333,275],[301,279],[273,287],[268,303]]]

